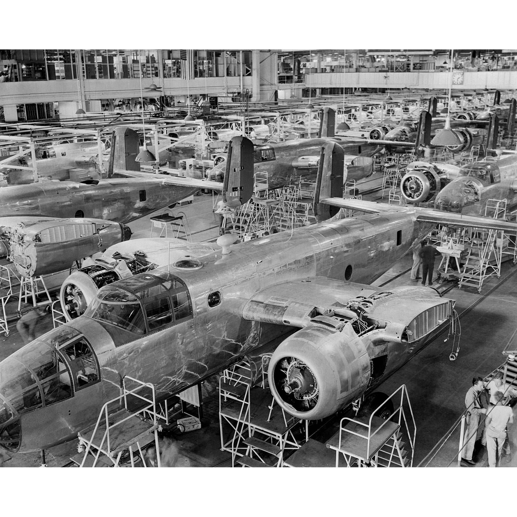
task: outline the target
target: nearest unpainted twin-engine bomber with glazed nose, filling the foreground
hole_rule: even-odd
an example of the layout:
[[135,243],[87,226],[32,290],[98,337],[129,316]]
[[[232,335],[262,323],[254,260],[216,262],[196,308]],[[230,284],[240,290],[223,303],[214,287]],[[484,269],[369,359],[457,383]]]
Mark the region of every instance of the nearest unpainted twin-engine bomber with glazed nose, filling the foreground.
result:
[[[235,146],[252,153],[244,137]],[[65,442],[120,397],[125,376],[153,383],[159,400],[282,338],[268,375],[286,412],[323,418],[370,393],[447,321],[452,300],[429,287],[369,283],[437,223],[517,225],[342,199],[343,162],[339,145],[323,146],[321,222],[236,245],[223,235],[221,249],[106,285],[83,315],[0,362],[0,445],[28,452]],[[242,192],[249,163],[230,171]],[[331,217],[341,207],[367,214]]]

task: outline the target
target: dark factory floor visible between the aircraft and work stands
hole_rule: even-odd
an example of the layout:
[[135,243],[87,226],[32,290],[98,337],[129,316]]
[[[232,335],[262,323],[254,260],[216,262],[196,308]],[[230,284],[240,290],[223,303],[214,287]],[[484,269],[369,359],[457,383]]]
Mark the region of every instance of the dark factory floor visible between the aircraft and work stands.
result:
[[[369,187],[380,183],[382,178],[373,177]],[[378,196],[377,194],[374,194]],[[374,200],[375,197],[364,196]],[[212,195],[194,196],[191,204],[176,206],[172,211],[186,215],[193,241],[215,241],[218,237],[218,220],[212,211]],[[160,215],[163,211],[157,212]],[[132,238],[150,235],[149,216],[130,224]],[[155,231],[155,235],[156,231]],[[398,285],[414,285],[409,280],[412,258],[405,256],[395,266],[374,282],[376,286],[389,288]],[[472,386],[472,377],[489,374],[505,361],[503,349],[517,349],[515,314],[517,313],[517,267],[507,262],[503,264],[501,278],[492,277],[483,285],[479,294],[472,288],[459,289],[454,286],[445,294],[456,301],[455,308],[461,317],[461,341],[457,359],[449,360],[455,350],[452,338],[445,341],[447,332],[425,346],[411,361],[391,375],[378,391],[391,394],[402,384],[407,388],[409,400],[416,421],[416,445],[413,466],[457,466],[459,428],[451,433],[436,455],[427,458],[430,451],[457,422],[465,409],[465,393]],[[435,273],[436,274],[436,273]],[[505,280],[501,282],[501,280]],[[437,285],[438,290],[446,286]],[[476,304],[476,305],[474,305]],[[464,314],[463,314],[464,313]],[[462,315],[463,314],[463,315]],[[7,357],[22,346],[22,341],[12,323],[9,337],[2,337],[0,359]],[[50,316],[45,316],[38,333],[52,327]],[[185,434],[178,434],[180,460],[178,466],[231,466],[231,454],[221,451],[218,416],[217,379],[210,378],[203,385],[203,428]],[[337,430],[339,422],[333,422]],[[517,424],[515,424],[517,425]],[[327,434],[330,431],[327,431]],[[325,433],[321,434],[325,436]],[[317,437],[316,437],[317,439]],[[324,441],[323,438],[321,438]],[[75,443],[64,444],[45,451],[48,466],[63,466],[77,452]],[[477,455],[476,455],[477,454]],[[476,467],[487,466],[486,449],[476,452]],[[39,454],[8,454],[9,461],[4,466],[39,466]],[[517,454],[514,454],[514,457]],[[501,467],[517,466],[515,460]]]

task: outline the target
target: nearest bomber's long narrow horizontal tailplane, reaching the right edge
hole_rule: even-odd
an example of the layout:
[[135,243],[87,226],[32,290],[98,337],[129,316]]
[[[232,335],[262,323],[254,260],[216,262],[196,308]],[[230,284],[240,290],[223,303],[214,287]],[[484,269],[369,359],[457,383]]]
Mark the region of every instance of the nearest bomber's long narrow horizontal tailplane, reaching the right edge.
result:
[[403,212],[405,214],[415,214],[415,218],[420,222],[443,224],[445,226],[469,226],[480,227],[489,230],[502,230],[507,233],[517,233],[517,224],[503,219],[492,219],[490,217],[465,216],[435,210],[434,208],[423,208],[419,206],[388,205],[386,203],[376,203],[373,201],[362,201],[358,199],[341,199],[340,197],[326,197],[320,203],[348,208],[369,214],[382,214],[382,212]]

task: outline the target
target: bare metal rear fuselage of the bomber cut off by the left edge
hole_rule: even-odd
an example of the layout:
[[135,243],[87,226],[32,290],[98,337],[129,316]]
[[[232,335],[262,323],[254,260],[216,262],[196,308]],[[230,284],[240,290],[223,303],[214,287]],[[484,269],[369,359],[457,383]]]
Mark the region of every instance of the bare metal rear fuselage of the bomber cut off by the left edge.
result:
[[197,189],[156,178],[104,179],[87,185],[42,181],[0,189],[0,217],[92,217],[128,223],[177,203]]

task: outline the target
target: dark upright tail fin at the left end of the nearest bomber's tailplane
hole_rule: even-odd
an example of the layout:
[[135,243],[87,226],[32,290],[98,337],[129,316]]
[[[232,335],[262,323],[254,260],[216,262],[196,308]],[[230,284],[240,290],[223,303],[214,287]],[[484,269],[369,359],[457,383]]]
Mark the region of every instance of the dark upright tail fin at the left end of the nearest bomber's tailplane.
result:
[[327,142],[322,147],[314,192],[314,215],[318,221],[325,221],[339,212],[339,208],[324,205],[320,200],[343,197],[344,156],[343,148],[336,142]]

